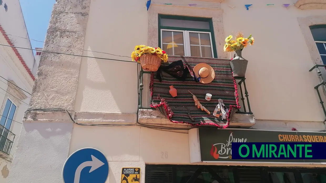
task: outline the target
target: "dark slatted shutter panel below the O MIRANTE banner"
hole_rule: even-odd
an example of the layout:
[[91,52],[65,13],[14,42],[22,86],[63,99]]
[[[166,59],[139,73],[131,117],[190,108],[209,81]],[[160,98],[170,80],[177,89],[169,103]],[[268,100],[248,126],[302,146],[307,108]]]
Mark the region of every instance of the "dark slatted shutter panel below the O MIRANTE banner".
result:
[[259,169],[238,169],[239,183],[261,183]]

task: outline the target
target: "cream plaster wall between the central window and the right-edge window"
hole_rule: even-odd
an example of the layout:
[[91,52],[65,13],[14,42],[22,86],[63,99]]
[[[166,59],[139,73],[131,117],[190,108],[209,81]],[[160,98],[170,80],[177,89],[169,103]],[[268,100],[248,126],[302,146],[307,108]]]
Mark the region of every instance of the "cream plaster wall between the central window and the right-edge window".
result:
[[[282,6],[286,3],[288,8]],[[268,0],[245,4],[253,5],[246,10],[241,2],[229,0],[221,6],[226,35],[242,31],[256,40],[243,51],[249,60],[246,85],[256,120],[323,121],[314,89],[319,81],[316,72],[308,72],[314,64],[297,18],[325,15],[325,10],[300,10],[291,1],[274,6],[266,6],[271,4]]]

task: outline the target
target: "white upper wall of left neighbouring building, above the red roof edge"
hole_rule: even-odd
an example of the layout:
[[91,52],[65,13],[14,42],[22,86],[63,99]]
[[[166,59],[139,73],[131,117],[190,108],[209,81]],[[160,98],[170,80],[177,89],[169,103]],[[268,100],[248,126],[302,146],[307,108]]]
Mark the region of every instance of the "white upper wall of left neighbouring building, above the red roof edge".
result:
[[[5,3],[8,6],[7,12],[4,8]],[[8,35],[8,37],[14,40],[13,43],[15,46],[32,48],[19,0],[3,0],[3,4],[0,6],[0,24],[7,34],[11,34]],[[2,43],[7,44],[7,42]],[[27,66],[32,70],[35,62],[33,50],[18,48],[18,51],[22,55]]]

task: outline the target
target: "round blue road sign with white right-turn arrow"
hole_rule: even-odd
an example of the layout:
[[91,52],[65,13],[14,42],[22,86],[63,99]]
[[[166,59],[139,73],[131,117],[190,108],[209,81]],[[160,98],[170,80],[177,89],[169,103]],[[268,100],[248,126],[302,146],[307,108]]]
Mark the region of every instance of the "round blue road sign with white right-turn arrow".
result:
[[64,183],[105,183],[109,163],[95,148],[82,148],[72,153],[62,169]]

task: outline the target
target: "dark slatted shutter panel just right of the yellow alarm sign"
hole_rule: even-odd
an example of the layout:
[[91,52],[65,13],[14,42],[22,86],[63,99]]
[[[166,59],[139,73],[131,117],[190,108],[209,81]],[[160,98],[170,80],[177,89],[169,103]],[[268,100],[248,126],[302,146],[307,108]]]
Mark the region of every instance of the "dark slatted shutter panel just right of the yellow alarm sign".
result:
[[172,167],[146,166],[145,183],[173,183]]

